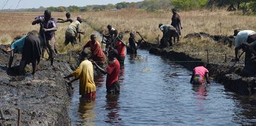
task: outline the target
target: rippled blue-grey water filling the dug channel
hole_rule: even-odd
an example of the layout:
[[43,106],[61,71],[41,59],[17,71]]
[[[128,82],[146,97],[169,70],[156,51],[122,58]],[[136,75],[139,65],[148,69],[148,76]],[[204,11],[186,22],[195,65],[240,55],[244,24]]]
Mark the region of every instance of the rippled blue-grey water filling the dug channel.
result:
[[138,51],[127,55],[120,95],[107,95],[106,75],[97,75],[97,99],[72,96],[72,125],[256,125],[255,100],[221,84],[189,83],[191,72],[168,59]]

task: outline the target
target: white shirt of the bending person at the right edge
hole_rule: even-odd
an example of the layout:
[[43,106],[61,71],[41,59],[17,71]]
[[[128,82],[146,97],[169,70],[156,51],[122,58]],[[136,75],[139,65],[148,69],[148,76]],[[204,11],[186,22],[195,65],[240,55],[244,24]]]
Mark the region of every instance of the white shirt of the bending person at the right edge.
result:
[[255,34],[255,31],[252,30],[243,30],[239,31],[235,38],[235,47],[239,47],[242,43],[247,41],[249,35]]

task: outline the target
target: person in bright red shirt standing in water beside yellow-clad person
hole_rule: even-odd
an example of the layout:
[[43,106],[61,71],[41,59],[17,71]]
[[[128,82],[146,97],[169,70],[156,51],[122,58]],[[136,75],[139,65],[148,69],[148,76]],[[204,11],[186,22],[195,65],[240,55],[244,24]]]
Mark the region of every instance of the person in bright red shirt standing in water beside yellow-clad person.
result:
[[119,80],[119,72],[120,72],[120,63],[116,59],[116,56],[118,56],[118,52],[116,49],[112,49],[109,51],[108,59],[108,67],[106,70],[103,68],[99,67],[95,61],[92,61],[93,65],[97,69],[100,70],[103,74],[107,74],[107,80],[106,80],[106,88],[107,88],[107,93],[111,94],[116,94],[120,92],[120,84],[118,82]]

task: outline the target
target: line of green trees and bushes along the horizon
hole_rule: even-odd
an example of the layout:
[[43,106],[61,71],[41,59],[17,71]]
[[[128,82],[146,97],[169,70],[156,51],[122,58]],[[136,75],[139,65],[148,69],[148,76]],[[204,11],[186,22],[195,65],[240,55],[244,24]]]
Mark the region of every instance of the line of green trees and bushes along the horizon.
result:
[[158,10],[171,10],[177,8],[178,10],[198,10],[198,9],[212,9],[214,7],[227,8],[227,11],[242,10],[244,14],[256,14],[255,0],[144,0],[140,2],[121,2],[116,4],[106,5],[88,5],[88,6],[50,6],[44,8],[29,8],[18,10],[2,10],[3,12],[42,12],[45,9],[52,12],[88,12],[88,11],[102,11],[102,10],[120,10],[123,8],[140,8],[149,12],[156,12]]

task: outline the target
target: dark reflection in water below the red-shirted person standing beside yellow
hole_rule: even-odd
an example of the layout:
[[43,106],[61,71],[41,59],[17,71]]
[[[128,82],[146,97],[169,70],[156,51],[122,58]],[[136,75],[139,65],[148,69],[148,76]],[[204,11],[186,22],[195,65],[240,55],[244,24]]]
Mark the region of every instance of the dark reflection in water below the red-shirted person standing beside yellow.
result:
[[108,111],[107,118],[105,120],[106,123],[110,124],[120,124],[122,118],[120,118],[120,106],[118,102],[119,95],[106,95],[106,110]]

